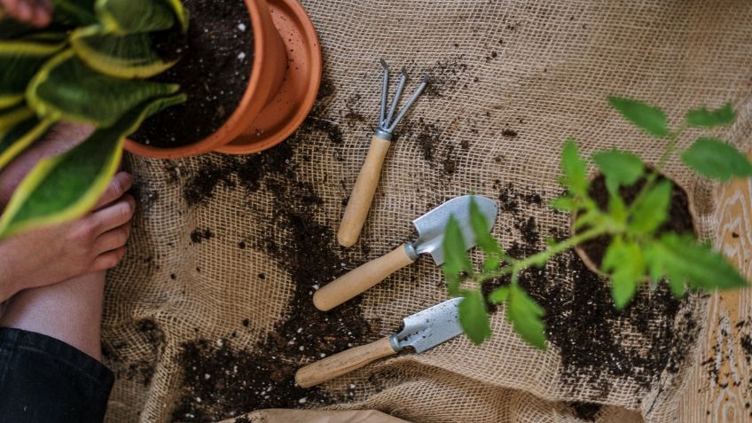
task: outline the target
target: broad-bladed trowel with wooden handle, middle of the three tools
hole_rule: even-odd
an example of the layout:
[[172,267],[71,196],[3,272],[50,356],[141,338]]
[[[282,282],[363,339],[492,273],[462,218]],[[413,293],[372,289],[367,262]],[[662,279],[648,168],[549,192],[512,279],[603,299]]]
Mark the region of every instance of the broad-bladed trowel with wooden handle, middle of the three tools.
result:
[[444,228],[452,215],[459,223],[466,247],[468,249],[474,247],[475,237],[470,225],[471,198],[475,200],[481,213],[485,216],[488,231],[490,231],[496,222],[498,213],[498,206],[494,200],[478,195],[465,195],[449,200],[412,221],[412,224],[418,230],[418,239],[414,242],[407,242],[391,253],[367,262],[341,278],[333,280],[313,295],[313,304],[322,311],[333,309],[342,302],[346,302],[378,284],[396,270],[415,262],[418,260],[419,254],[427,253],[431,255],[436,265],[441,266],[444,262],[442,246]]

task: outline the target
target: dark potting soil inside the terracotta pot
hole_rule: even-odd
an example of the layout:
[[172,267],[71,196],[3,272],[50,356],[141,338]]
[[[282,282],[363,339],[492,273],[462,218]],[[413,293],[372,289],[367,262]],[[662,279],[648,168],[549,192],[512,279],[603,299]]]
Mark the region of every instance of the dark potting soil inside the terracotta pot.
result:
[[246,92],[254,54],[243,0],[184,0],[190,13],[185,37],[168,37],[157,50],[180,61],[153,81],[178,83],[188,100],[147,119],[131,136],[145,145],[189,145],[219,129]]

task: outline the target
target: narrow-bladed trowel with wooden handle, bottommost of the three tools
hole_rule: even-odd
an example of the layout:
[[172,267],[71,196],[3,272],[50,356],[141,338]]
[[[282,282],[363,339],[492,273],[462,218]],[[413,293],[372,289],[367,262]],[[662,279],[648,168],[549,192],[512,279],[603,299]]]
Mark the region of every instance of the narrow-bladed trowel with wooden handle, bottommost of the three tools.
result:
[[403,349],[411,348],[419,354],[449,341],[462,333],[458,317],[459,302],[462,302],[462,298],[452,298],[419,311],[403,319],[400,333],[302,367],[295,373],[295,382],[302,388],[310,388],[359,369],[378,358],[392,356]]

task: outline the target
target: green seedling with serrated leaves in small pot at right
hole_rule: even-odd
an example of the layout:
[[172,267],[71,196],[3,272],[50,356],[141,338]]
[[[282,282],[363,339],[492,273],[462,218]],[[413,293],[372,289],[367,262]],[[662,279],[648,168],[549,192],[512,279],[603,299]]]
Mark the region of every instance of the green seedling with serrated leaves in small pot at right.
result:
[[[712,129],[736,119],[731,105],[717,110],[699,107],[690,110],[678,129],[670,129],[661,109],[630,98],[608,98],[628,121],[665,143],[661,159],[653,166],[633,153],[616,149],[593,153],[592,162],[600,175],[587,177],[587,163],[569,139],[561,153],[563,176],[560,184],[567,192],[552,201],[552,208],[568,212],[571,236],[552,240],[537,254],[513,258],[485,231],[484,217],[471,204],[470,214],[478,246],[485,255],[482,270],[474,270],[466,253],[458,223],[450,219],[443,247],[444,277],[451,295],[463,296],[460,323],[468,337],[482,343],[491,329],[486,301],[505,303],[506,317],[513,329],[529,344],[546,348],[542,309],[521,287],[521,271],[543,267],[553,256],[576,248],[591,270],[607,275],[617,309],[623,309],[646,281],[668,283],[677,297],[687,288],[712,291],[747,286],[724,255],[699,242],[692,228],[692,211],[687,196],[675,188],[662,168],[678,153],[678,139],[687,128]],[[752,176],[752,163],[732,145],[715,137],[699,137],[681,152],[681,160],[700,176],[719,181]],[[670,222],[670,219],[681,222]],[[595,256],[595,257],[594,257]],[[508,277],[485,298],[481,284],[493,278]],[[466,282],[471,283],[467,287]],[[465,282],[465,283],[464,283]],[[474,287],[475,286],[475,287]]]

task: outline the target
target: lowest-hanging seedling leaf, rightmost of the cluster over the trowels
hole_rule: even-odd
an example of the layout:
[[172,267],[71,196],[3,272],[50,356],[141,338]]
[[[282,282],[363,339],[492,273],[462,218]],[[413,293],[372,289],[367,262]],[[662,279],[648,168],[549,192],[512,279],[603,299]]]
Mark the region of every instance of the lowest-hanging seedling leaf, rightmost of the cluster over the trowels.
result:
[[506,318],[515,332],[537,349],[545,350],[544,309],[519,286],[511,286],[506,305]]

